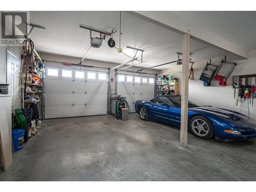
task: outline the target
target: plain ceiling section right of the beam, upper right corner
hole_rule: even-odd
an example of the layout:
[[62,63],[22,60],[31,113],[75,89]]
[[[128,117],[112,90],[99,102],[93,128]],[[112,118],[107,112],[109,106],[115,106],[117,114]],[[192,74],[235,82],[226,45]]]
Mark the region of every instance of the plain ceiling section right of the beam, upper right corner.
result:
[[256,49],[256,11],[173,11],[247,50]]

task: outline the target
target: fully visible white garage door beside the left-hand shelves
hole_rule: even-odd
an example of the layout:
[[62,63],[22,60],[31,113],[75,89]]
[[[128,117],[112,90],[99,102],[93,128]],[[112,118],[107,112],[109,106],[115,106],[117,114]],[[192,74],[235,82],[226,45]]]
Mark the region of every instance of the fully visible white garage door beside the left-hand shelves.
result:
[[45,118],[105,115],[108,74],[46,68]]

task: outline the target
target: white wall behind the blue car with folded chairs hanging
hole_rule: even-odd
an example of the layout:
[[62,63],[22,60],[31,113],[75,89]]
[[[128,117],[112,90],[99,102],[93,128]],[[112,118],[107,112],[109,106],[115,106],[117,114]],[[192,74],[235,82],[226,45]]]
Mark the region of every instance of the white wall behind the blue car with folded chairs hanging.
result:
[[[223,57],[211,59],[212,63],[215,65],[220,65],[221,59]],[[244,60],[238,60],[227,57],[227,61],[237,62],[237,67],[234,69],[232,74],[227,80],[227,86],[219,86],[219,81],[212,80],[210,87],[204,87],[203,81],[199,80],[200,75],[206,65],[206,61],[194,63],[195,70],[195,81],[189,80],[189,98],[193,99],[201,104],[216,106],[219,108],[232,109],[235,111],[242,112],[248,115],[247,112],[247,99],[242,101],[239,98],[238,106],[234,103],[234,89],[232,88],[232,76],[235,75],[249,75],[256,74],[256,50],[251,50],[249,52],[249,58]],[[181,69],[181,68],[180,68]],[[161,73],[176,72],[179,68],[175,65],[167,70],[162,70]],[[224,68],[222,69],[224,71]],[[174,75],[180,80],[181,84],[181,73]],[[181,89],[181,88],[180,88]],[[250,117],[256,119],[256,98],[254,99],[254,105],[249,105]]]

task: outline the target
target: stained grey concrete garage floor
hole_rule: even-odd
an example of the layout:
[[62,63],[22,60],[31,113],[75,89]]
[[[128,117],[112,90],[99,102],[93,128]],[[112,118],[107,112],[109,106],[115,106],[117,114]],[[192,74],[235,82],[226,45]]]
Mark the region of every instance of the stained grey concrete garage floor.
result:
[[137,114],[44,120],[1,181],[256,181],[256,139],[221,142]]

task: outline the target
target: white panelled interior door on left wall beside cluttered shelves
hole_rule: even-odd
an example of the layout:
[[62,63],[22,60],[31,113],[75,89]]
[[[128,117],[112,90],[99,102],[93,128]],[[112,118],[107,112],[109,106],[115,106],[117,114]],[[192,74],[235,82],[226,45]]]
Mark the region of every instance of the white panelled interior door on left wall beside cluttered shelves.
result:
[[12,94],[12,109],[20,108],[22,103],[20,62],[15,55],[7,51],[7,84],[9,84],[9,94]]

